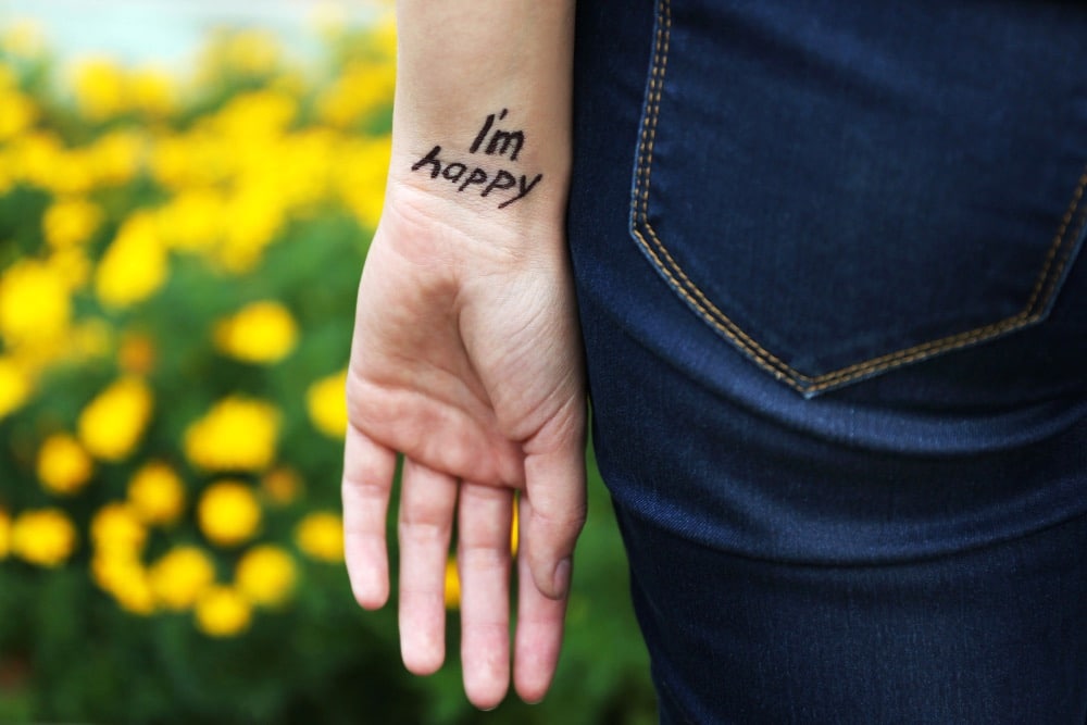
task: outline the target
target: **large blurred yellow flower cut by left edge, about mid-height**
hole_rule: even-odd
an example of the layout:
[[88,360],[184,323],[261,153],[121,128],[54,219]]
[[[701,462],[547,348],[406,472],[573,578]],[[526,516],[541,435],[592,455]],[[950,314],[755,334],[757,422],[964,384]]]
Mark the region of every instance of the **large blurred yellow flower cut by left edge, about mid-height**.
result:
[[55,338],[71,316],[67,285],[51,266],[24,259],[0,275],[0,335],[10,343]]

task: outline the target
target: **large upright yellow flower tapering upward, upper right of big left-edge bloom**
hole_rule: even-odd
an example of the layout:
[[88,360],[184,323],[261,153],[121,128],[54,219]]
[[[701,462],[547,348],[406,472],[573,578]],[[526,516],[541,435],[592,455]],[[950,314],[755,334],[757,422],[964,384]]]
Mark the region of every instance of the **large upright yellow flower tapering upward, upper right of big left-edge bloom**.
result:
[[103,304],[126,308],[153,295],[166,280],[166,248],[154,217],[139,212],[117,232],[99,262],[95,291]]

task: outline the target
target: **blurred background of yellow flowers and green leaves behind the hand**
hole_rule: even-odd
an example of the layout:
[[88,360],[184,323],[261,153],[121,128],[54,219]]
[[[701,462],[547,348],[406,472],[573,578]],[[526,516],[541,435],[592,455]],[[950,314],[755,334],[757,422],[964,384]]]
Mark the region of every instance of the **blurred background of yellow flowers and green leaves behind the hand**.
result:
[[408,675],[351,598],[395,48],[387,2],[0,0],[0,723],[655,722],[595,472],[544,704]]

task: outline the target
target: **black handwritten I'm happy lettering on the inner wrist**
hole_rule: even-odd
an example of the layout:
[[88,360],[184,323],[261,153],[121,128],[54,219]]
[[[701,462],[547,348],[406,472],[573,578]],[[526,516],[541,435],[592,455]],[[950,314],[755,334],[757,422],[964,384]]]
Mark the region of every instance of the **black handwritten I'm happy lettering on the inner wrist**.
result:
[[[497,120],[502,121],[508,113],[508,109],[502,109]],[[472,141],[472,146],[468,147],[468,153],[478,153],[482,150],[485,155],[505,157],[510,161],[516,161],[517,154],[525,146],[525,132],[495,128],[495,121],[493,113],[487,116],[479,133]],[[455,185],[458,192],[470,189],[473,192],[478,191],[480,197],[489,197],[495,193],[497,198],[502,199],[498,204],[499,209],[504,209],[514,201],[527,197],[544,178],[544,174],[536,174],[529,179],[525,174],[514,174],[505,168],[487,170],[475,166],[468,171],[466,163],[442,159],[441,147],[437,145],[411,166],[413,172],[423,168],[430,173],[430,178],[441,177]]]

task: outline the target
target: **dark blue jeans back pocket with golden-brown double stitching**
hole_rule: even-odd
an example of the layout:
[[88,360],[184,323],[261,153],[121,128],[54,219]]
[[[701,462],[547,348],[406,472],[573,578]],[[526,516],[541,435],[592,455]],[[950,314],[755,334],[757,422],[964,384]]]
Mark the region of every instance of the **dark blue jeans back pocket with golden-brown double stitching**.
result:
[[1036,325],[1060,293],[1087,14],[1003,4],[657,1],[630,234],[804,396]]

